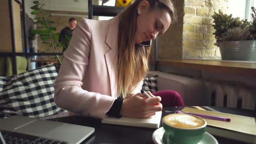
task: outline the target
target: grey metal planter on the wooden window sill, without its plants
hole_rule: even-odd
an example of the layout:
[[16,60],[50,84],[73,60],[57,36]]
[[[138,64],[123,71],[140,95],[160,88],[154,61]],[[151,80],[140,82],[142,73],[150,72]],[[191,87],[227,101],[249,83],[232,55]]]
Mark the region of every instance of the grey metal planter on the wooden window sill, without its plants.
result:
[[218,42],[222,60],[256,61],[256,40]]

